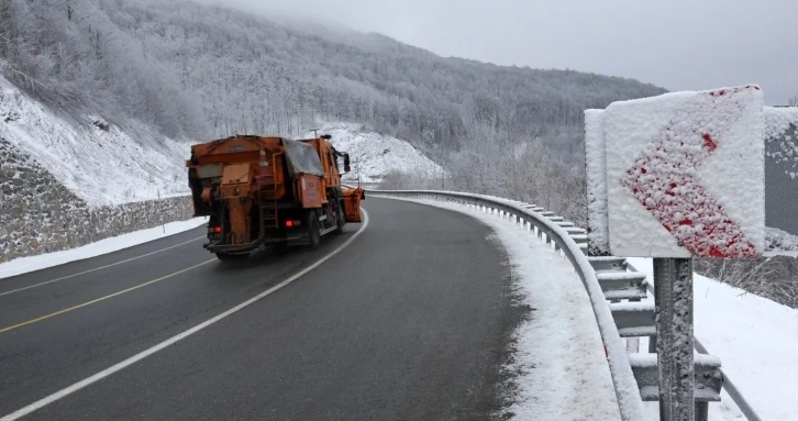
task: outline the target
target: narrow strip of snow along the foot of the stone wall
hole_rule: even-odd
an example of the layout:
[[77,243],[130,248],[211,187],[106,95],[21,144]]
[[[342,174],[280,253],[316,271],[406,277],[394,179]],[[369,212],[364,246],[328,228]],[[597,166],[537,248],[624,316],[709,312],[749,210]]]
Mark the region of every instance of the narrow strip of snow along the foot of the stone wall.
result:
[[147,230],[134,231],[126,234],[104,239],[96,243],[86,244],[80,247],[65,250],[62,252],[40,254],[36,256],[20,257],[11,262],[0,264],[0,280],[3,278],[22,275],[29,272],[46,269],[48,267],[63,265],[70,262],[97,257],[103,254],[118,252],[134,245],[144,244],[154,240],[175,235],[195,229],[207,220],[193,218],[188,221],[169,222]]

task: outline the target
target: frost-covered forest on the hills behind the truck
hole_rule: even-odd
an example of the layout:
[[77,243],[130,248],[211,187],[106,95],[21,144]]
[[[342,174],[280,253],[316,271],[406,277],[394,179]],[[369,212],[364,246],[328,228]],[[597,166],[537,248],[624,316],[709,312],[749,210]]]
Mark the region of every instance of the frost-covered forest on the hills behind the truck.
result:
[[408,168],[394,177],[403,187],[536,201],[580,224],[583,111],[664,92],[189,1],[4,0],[0,23],[3,76],[65,113],[102,110],[112,123],[193,142],[363,123],[445,168],[423,177]]

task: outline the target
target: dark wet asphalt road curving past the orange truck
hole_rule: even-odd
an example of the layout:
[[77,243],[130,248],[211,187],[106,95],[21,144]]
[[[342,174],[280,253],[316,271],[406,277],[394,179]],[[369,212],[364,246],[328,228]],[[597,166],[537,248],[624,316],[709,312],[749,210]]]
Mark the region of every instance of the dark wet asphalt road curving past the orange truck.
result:
[[223,264],[201,248],[200,228],[0,279],[0,417],[352,240],[284,288],[23,419],[489,419],[503,402],[499,367],[522,315],[503,252],[459,213],[376,198],[364,208],[369,223],[356,239],[362,225],[348,224],[317,252]]

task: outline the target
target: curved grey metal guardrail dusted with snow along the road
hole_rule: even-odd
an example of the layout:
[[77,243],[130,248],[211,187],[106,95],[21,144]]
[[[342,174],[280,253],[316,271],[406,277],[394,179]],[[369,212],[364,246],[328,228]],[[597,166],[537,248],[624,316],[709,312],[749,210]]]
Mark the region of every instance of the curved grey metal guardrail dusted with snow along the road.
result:
[[[586,231],[535,204],[505,198],[436,190],[367,190],[370,196],[455,202],[514,218],[570,261],[588,292],[607,352],[621,418],[642,420],[643,401],[658,400],[655,306],[649,299],[646,275],[622,257],[588,257]],[[639,354],[639,339],[649,337],[649,353]],[[624,344],[625,340],[625,344]],[[696,420],[708,419],[708,403],[720,401],[725,387],[750,421],[758,421],[753,408],[721,370],[720,359],[707,355],[696,341]],[[636,392],[635,392],[636,391]]]

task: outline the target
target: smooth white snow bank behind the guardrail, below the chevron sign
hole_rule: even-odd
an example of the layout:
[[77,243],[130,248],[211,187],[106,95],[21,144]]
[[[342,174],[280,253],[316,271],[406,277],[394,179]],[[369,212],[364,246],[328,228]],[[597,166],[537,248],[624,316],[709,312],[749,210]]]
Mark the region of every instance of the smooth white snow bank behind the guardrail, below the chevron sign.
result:
[[[653,284],[651,258],[629,263]],[[793,386],[798,378],[798,310],[698,274],[694,292],[696,337],[720,357],[723,372],[760,418],[798,420]]]

